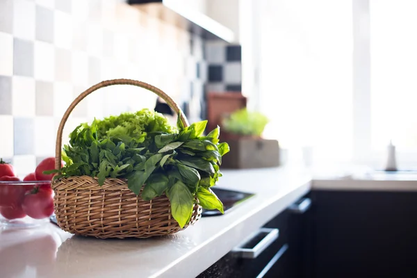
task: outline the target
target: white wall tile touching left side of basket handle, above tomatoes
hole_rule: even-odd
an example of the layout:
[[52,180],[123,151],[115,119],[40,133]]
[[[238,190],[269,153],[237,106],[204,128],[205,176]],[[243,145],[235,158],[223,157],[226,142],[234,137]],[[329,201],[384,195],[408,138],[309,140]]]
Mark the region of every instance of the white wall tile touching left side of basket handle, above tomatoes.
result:
[[[42,131],[42,132],[40,132]],[[54,156],[54,117],[35,117],[35,156]]]

